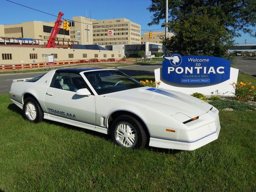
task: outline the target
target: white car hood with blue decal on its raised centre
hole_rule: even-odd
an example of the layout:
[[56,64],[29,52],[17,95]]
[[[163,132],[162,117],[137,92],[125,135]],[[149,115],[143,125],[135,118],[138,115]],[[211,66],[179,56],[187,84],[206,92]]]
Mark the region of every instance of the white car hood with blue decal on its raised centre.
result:
[[115,92],[108,96],[134,102],[166,115],[182,113],[189,118],[205,114],[212,107],[200,99],[181,92],[150,87]]

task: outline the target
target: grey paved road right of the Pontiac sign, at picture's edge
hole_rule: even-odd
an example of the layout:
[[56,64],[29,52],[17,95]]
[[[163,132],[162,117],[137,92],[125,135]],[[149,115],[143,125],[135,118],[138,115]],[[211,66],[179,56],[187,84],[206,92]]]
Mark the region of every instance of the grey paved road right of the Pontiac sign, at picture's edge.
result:
[[236,58],[234,66],[239,69],[240,72],[256,77],[256,60]]

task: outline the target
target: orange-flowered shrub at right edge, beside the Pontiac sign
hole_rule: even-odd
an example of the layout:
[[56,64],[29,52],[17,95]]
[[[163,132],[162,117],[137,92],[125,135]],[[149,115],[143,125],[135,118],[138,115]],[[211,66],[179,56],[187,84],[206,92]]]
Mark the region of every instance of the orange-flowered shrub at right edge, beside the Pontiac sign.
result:
[[233,82],[231,85],[235,90],[234,95],[236,96],[238,101],[253,100],[254,86],[252,86],[251,82],[240,82],[239,84]]

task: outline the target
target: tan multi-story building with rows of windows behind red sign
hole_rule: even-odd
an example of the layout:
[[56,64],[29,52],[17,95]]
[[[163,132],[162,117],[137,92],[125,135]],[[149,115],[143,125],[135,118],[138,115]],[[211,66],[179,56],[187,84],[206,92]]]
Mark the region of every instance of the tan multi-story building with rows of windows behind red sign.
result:
[[[108,31],[114,35],[109,36]],[[140,44],[141,26],[126,18],[93,20],[93,43],[97,45]]]

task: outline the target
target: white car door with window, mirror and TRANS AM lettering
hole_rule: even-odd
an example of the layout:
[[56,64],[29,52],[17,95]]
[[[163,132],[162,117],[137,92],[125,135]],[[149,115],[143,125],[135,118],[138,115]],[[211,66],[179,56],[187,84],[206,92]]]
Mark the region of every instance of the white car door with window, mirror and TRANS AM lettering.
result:
[[47,112],[95,127],[95,96],[76,95],[82,88],[88,88],[88,85],[80,74],[55,72],[44,97]]

